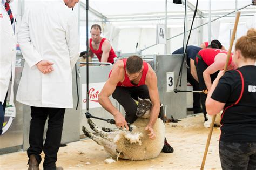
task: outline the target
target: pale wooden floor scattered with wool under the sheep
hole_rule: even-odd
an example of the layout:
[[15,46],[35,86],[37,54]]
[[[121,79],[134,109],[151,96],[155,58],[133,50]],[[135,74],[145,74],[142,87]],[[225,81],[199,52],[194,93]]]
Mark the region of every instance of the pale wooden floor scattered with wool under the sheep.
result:
[[[203,115],[181,119],[179,123],[166,124],[166,138],[174,148],[173,153],[160,153],[146,161],[118,160],[105,164],[109,154],[94,141],[83,140],[61,147],[57,166],[64,169],[200,169],[209,129],[203,126]],[[218,139],[220,130],[214,127],[205,169],[221,169]],[[44,155],[42,154],[42,157]],[[26,152],[0,155],[0,169],[27,169]],[[42,163],[40,169],[43,169]]]

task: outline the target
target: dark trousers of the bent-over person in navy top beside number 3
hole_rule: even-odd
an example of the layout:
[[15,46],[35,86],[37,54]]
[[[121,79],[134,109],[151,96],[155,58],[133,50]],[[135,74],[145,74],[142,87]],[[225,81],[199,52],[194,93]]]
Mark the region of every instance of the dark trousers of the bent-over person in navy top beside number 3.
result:
[[[187,81],[193,86],[193,90],[199,90],[199,83],[195,80],[190,73],[190,69],[187,69]],[[201,100],[199,93],[193,93],[193,111],[198,112],[201,108]]]

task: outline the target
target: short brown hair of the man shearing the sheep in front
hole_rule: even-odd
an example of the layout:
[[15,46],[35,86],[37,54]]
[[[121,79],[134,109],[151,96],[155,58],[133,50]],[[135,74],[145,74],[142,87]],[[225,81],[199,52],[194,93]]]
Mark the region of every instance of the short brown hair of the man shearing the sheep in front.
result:
[[126,71],[129,74],[138,73],[142,70],[143,60],[139,56],[130,56],[126,62]]

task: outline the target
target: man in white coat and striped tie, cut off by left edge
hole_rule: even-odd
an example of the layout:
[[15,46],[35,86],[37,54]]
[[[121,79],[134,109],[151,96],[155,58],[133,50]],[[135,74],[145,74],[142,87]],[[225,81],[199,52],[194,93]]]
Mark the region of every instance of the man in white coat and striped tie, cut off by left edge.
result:
[[3,132],[4,111],[8,87],[11,80],[10,101],[13,103],[14,71],[16,59],[15,18],[10,9],[10,0],[0,4],[0,135]]

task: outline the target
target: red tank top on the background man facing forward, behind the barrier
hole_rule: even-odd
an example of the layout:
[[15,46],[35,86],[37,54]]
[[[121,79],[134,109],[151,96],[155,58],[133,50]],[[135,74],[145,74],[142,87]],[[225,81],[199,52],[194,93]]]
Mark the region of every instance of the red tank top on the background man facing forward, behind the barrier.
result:
[[[103,51],[102,51],[102,44],[103,44],[103,42],[105,40],[106,40],[106,38],[102,38],[102,40],[100,41],[100,44],[99,44],[99,49],[95,50],[92,47],[92,39],[90,38],[90,49],[91,49],[92,53],[94,53],[98,57],[100,62],[102,60],[102,53],[103,53]],[[111,50],[109,52],[109,58],[107,59],[107,62],[114,63],[114,58],[115,57],[117,57],[117,55],[116,55],[116,53],[114,53],[114,50],[113,50],[113,48],[111,46]]]

